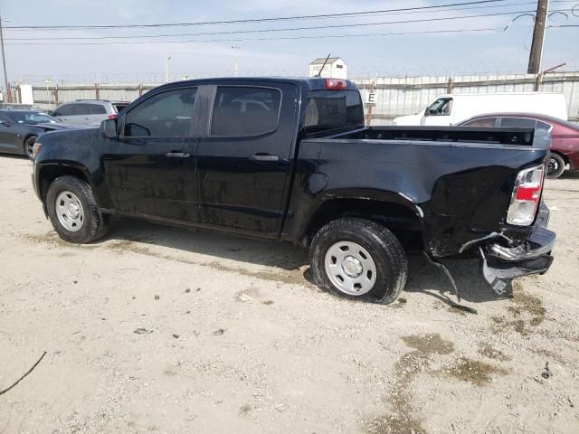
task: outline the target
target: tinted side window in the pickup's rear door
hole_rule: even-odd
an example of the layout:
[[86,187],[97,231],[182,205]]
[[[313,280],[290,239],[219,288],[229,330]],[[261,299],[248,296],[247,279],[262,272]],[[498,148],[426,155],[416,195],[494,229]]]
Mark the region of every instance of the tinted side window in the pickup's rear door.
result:
[[218,86],[211,121],[213,137],[271,133],[280,120],[281,91],[255,86]]

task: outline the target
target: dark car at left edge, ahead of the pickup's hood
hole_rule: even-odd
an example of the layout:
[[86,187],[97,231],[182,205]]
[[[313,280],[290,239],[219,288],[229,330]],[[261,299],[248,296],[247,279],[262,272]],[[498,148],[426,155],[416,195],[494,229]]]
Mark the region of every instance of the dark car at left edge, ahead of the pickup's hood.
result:
[[0,152],[33,156],[36,137],[46,131],[78,128],[33,110],[0,109]]

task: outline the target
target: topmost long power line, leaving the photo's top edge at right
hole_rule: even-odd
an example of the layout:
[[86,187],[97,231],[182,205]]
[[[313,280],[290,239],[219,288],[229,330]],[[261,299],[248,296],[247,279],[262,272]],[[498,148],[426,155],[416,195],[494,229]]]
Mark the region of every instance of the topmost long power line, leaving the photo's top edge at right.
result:
[[332,18],[332,17],[344,17],[344,16],[359,16],[365,14],[384,14],[384,13],[394,13],[403,11],[418,11],[418,10],[432,10],[439,9],[441,7],[451,7],[451,6],[462,6],[462,5],[481,5],[489,3],[502,3],[507,0],[479,0],[471,2],[462,3],[451,3],[446,5],[432,5],[432,6],[416,6],[416,7],[403,7],[397,9],[384,9],[375,11],[362,11],[362,12],[346,12],[341,14],[318,14],[318,15],[295,15],[295,16],[281,16],[275,18],[251,18],[246,20],[228,20],[228,21],[200,21],[194,23],[164,23],[164,24],[102,24],[102,25],[14,25],[7,26],[6,29],[16,30],[30,30],[30,29],[42,29],[42,30],[62,30],[62,29],[75,29],[75,30],[89,30],[89,29],[119,29],[119,28],[146,28],[146,27],[179,27],[179,26],[192,26],[192,25],[208,25],[208,24],[245,24],[245,23],[267,23],[272,21],[293,21],[293,20],[308,20],[308,19],[319,19],[319,18]]

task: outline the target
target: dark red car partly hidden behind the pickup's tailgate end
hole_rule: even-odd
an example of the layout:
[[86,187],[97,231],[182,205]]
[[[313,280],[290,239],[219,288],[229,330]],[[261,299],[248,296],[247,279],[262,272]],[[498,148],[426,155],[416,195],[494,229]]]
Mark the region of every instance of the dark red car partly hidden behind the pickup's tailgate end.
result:
[[565,169],[579,169],[579,125],[565,120],[527,113],[489,113],[460,123],[464,127],[523,127],[551,134],[547,178],[558,178]]

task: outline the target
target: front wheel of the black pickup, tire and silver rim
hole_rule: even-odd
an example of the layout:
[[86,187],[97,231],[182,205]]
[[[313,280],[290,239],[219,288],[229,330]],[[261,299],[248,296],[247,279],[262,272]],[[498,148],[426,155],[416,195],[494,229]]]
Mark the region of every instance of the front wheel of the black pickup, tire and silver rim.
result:
[[75,176],[54,180],[46,193],[46,208],[54,231],[64,241],[96,241],[109,228],[109,215],[99,211],[90,185]]

